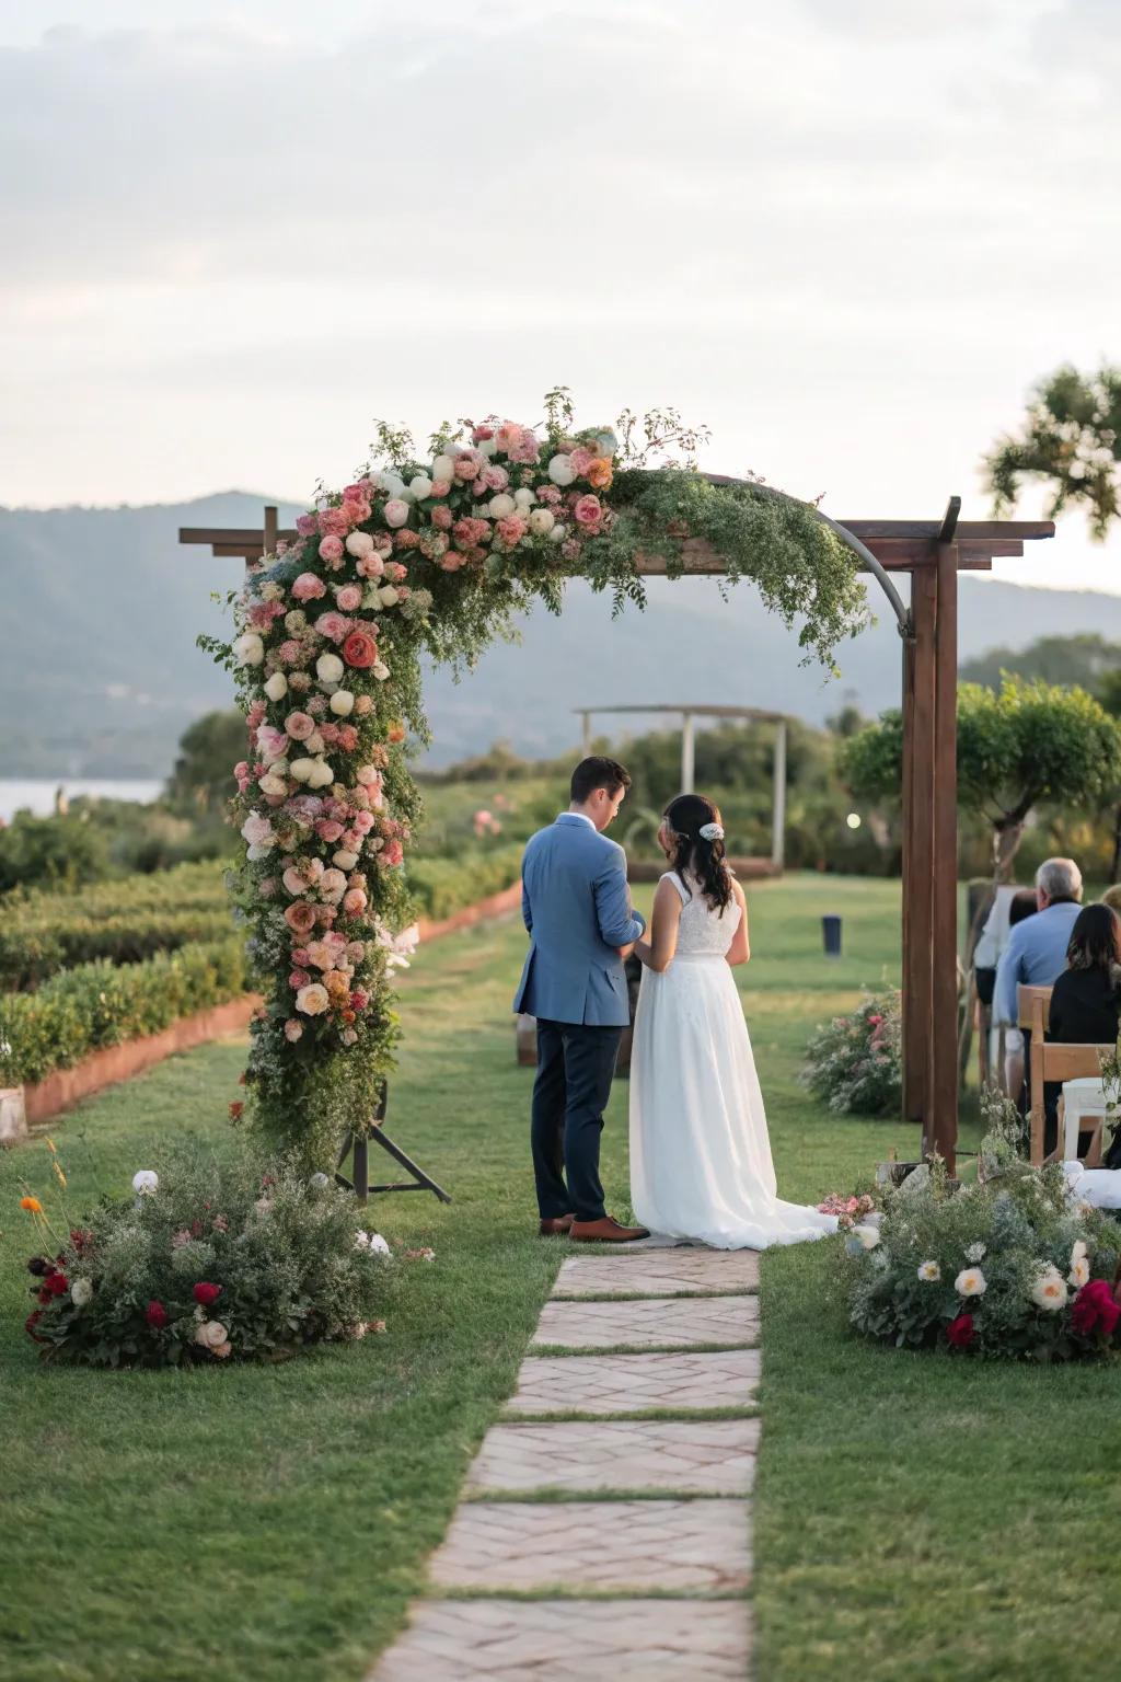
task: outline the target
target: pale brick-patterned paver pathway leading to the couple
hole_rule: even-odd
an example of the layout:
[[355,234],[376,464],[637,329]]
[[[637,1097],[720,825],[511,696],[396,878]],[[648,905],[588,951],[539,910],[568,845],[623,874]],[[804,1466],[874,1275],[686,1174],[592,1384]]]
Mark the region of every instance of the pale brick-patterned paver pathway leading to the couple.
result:
[[743,1682],[756,1285],[743,1250],[566,1256],[432,1596],[368,1682]]

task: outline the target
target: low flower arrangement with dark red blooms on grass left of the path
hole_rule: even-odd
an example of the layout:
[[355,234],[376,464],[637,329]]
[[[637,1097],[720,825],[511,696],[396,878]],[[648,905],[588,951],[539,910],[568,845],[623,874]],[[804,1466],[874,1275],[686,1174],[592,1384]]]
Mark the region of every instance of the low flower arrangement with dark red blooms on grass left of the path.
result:
[[[54,1159],[61,1193],[66,1176]],[[326,1176],[240,1159],[173,1156],[141,1169],[133,1198],[84,1221],[22,1206],[39,1250],[29,1262],[27,1332],[44,1357],[86,1366],[276,1361],[311,1344],[382,1330],[390,1248],[363,1231]]]

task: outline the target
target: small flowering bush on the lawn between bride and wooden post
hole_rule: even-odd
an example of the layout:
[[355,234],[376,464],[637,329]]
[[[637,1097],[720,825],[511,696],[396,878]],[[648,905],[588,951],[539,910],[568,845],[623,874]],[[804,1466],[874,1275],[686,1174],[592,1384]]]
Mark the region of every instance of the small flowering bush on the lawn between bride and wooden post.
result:
[[896,987],[869,992],[850,1016],[818,1028],[802,1083],[835,1115],[897,1115],[903,1102],[903,1019]]

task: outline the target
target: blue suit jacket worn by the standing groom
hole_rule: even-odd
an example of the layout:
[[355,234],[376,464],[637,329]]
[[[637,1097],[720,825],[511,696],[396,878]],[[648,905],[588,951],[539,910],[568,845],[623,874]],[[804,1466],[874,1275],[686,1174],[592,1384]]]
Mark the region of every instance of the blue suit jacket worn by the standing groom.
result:
[[625,1028],[627,977],[615,949],[637,940],[645,922],[630,910],[624,849],[587,819],[561,812],[526,848],[521,915],[529,952],[514,1009],[553,1023]]

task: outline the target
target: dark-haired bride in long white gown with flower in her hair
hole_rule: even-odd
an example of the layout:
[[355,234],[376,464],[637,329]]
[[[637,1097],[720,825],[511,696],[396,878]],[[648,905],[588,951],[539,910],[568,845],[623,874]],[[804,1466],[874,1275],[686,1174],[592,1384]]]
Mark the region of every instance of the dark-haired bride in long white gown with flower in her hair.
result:
[[650,1231],[765,1250],[837,1230],[775,1196],[751,1041],[731,965],[746,964],[748,907],[711,801],[681,794],[657,833],[672,865],[654,895],[630,1056],[630,1191]]

